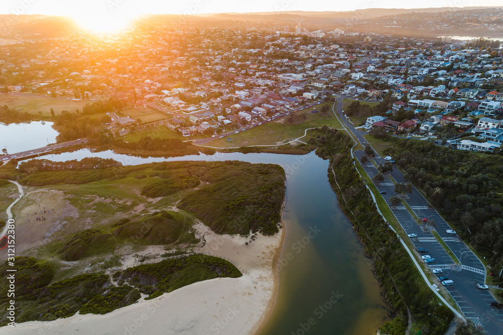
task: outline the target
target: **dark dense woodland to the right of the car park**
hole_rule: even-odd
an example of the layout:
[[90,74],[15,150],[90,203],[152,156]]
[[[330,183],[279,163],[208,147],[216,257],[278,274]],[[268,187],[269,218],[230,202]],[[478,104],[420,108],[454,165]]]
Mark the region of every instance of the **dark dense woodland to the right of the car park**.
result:
[[408,139],[385,153],[491,266],[503,262],[503,156]]

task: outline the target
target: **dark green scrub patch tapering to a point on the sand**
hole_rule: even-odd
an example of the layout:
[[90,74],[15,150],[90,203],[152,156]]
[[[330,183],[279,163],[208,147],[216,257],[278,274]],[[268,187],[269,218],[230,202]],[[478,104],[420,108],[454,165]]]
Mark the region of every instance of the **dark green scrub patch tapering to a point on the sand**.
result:
[[149,299],[192,283],[213,278],[238,278],[242,274],[231,263],[213,256],[185,258],[144,264],[114,274],[114,280],[138,287]]

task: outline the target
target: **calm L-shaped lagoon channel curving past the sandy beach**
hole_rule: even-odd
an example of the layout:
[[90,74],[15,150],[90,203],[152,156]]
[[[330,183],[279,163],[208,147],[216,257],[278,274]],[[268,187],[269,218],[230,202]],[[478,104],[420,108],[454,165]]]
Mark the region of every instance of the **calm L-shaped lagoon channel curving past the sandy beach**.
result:
[[[339,208],[327,177],[328,161],[306,155],[215,153],[141,158],[113,151],[76,150],[46,155],[54,161],[113,158],[125,165],[154,161],[242,160],[276,163],[287,175],[282,221],[285,239],[277,265],[278,292],[262,334],[375,334],[391,312],[372,262]],[[267,303],[267,302],[265,302]]]

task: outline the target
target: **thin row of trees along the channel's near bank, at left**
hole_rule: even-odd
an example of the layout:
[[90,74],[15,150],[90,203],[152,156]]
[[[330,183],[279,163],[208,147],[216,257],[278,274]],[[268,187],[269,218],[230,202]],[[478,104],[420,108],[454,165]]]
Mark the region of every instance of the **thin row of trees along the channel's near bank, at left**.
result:
[[111,158],[85,157],[81,160],[52,161],[48,159],[31,159],[19,164],[18,169],[27,174],[45,171],[108,169],[122,166],[122,163]]

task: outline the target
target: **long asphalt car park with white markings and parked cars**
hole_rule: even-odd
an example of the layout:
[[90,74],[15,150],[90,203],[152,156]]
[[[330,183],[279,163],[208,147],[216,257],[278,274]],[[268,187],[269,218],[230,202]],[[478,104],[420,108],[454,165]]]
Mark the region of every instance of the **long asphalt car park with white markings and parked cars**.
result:
[[[363,155],[365,153],[362,150],[355,151],[356,159],[360,160]],[[376,158],[374,161],[380,164],[385,160]],[[364,169],[371,178],[378,173],[372,162],[364,164]],[[396,166],[394,166],[390,177],[399,183],[408,182]],[[485,267],[456,234],[446,232],[447,229],[451,228],[445,220],[431,207],[430,203],[415,187],[411,194],[407,194],[405,202],[419,219],[427,218],[435,220],[437,226],[435,229],[436,232],[454,255],[461,260],[461,265],[454,263],[432,232],[423,229],[423,225],[414,220],[405,206],[399,205],[396,208],[391,206],[390,198],[396,194],[394,192],[394,184],[389,178],[386,178],[383,183],[376,185],[376,187],[379,192],[386,192],[381,196],[392,209],[394,216],[404,231],[407,234],[416,234],[415,237],[410,237],[414,246],[416,248],[423,247],[428,250],[428,253],[419,255],[429,255],[435,259],[435,262],[429,265],[430,269],[442,269],[442,273],[436,276],[445,276],[454,281],[455,285],[446,287],[446,289],[456,301],[463,314],[467,318],[472,319],[476,324],[482,325],[488,334],[503,333],[503,311],[491,308],[491,302],[496,301],[494,297],[488,290],[479,290],[476,287],[476,284],[484,284],[485,282]],[[435,284],[437,286],[442,285],[440,281]]]

